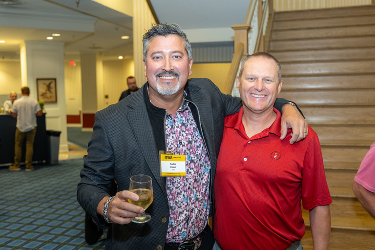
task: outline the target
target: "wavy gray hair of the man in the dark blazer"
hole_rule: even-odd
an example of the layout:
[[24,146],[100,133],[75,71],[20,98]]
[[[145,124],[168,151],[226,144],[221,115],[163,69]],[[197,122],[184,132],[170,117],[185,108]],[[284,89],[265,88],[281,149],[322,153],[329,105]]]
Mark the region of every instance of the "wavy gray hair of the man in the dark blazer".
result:
[[180,25],[178,24],[167,24],[167,23],[161,23],[161,24],[155,24],[153,23],[151,28],[147,30],[146,34],[143,35],[143,60],[146,61],[147,57],[147,51],[148,51],[148,43],[157,36],[168,36],[168,35],[177,35],[181,37],[185,42],[185,49],[187,52],[188,59],[190,61],[191,59],[191,45],[190,42],[187,40],[186,34],[182,31],[180,28]]

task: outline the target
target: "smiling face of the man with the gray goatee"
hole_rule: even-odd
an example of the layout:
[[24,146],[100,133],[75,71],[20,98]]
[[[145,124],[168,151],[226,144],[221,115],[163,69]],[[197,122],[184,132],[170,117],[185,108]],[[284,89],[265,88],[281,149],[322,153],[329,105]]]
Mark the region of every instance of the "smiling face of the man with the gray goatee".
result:
[[188,59],[184,40],[177,35],[157,36],[148,43],[145,76],[150,97],[182,95],[191,75],[192,59]]

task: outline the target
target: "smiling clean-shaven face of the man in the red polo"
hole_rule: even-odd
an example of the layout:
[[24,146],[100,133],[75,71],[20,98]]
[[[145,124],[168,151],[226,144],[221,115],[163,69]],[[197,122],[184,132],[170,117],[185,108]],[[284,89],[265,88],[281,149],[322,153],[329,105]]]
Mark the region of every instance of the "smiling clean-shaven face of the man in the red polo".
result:
[[241,77],[237,77],[244,112],[271,112],[281,86],[275,61],[259,56],[251,57],[244,64]]

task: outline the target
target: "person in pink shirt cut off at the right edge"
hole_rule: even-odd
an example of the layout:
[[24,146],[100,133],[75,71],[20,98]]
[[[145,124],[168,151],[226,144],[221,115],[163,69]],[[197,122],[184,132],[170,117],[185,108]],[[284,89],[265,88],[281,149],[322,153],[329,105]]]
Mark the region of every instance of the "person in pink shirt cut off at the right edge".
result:
[[375,219],[375,142],[354,177],[353,192],[363,208]]

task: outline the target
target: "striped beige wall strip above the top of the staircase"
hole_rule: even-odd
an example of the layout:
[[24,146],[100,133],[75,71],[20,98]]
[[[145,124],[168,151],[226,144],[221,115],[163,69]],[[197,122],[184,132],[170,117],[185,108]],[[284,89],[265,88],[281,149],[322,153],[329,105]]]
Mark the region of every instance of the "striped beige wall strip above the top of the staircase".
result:
[[275,11],[323,9],[372,4],[372,0],[273,0]]

